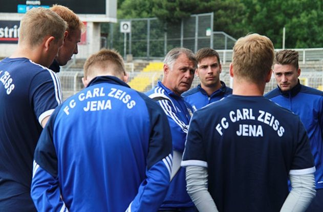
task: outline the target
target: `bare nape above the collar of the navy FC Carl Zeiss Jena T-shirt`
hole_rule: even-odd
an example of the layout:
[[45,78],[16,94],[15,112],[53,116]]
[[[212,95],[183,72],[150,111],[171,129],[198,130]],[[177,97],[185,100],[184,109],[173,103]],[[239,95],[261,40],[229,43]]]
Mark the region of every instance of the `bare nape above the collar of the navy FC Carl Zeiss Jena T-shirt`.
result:
[[254,83],[245,79],[236,79],[233,77],[233,91],[234,95],[241,96],[263,96],[266,83]]

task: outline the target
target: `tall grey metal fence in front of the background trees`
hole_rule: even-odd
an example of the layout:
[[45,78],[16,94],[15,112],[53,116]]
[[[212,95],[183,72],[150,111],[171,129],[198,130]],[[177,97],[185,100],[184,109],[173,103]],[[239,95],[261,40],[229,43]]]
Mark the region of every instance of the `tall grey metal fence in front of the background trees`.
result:
[[[121,33],[120,23],[130,22],[131,32]],[[213,32],[213,13],[195,14],[178,24],[164,24],[157,18],[120,19],[110,24],[107,47],[135,59],[162,58],[175,47],[196,52],[203,47],[232,49],[235,39],[224,32]]]

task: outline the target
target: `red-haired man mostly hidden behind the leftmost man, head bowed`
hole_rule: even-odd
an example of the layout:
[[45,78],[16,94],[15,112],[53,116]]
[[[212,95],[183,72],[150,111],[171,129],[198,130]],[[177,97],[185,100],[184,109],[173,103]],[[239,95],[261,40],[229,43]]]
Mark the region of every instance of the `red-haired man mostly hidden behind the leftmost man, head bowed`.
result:
[[73,54],[78,53],[77,44],[81,41],[81,34],[84,33],[85,26],[79,17],[67,7],[53,5],[50,10],[57,13],[68,24],[68,28],[64,33],[64,43],[59,48],[57,56],[49,67],[57,73],[60,71],[60,66],[65,66]]

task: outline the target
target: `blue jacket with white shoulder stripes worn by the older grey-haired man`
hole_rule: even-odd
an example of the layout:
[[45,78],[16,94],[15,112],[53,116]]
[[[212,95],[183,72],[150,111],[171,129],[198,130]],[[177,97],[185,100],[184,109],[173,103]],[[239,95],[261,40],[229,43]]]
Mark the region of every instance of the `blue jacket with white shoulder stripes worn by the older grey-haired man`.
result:
[[[160,81],[157,87],[148,91],[146,95],[155,99],[166,113],[171,130],[173,150],[182,154],[193,109],[181,96],[170,91]],[[167,196],[161,208],[191,206],[194,206],[194,204],[186,192],[185,168],[181,167],[170,182]]]

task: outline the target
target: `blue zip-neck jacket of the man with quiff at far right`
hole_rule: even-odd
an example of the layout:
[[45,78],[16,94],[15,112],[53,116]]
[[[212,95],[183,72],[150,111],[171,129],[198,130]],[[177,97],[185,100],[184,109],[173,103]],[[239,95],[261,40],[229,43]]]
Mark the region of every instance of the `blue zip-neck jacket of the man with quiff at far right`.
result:
[[279,87],[265,95],[291,110],[303,122],[310,139],[316,167],[316,189],[323,188],[323,92],[299,83],[288,92]]

